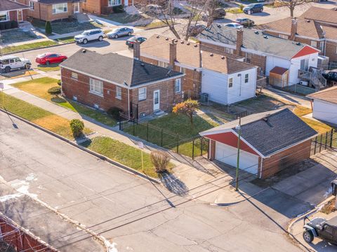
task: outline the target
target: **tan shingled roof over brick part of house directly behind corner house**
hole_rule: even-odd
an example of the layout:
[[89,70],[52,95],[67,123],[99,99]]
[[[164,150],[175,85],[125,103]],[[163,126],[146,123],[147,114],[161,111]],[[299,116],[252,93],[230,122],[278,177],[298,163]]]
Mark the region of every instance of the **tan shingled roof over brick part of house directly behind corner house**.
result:
[[[140,45],[140,55],[144,57],[156,57],[169,61],[170,43],[177,44],[177,62],[195,68],[200,67],[200,48],[199,43],[190,41],[177,40],[166,36],[154,34]],[[223,53],[225,56],[230,56],[234,59],[242,59],[236,55]]]

